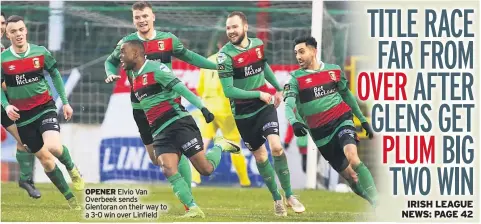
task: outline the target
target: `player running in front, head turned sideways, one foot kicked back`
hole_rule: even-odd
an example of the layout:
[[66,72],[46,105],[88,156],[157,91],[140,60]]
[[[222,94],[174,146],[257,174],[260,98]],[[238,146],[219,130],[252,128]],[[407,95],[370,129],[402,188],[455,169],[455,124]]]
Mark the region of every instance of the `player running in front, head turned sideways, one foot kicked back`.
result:
[[190,182],[178,173],[181,154],[187,156],[202,175],[209,176],[219,165],[222,151],[239,153],[240,147],[218,137],[214,139],[214,148],[205,153],[200,131],[182,106],[181,96],[202,111],[207,123],[214,120],[214,115],[174,76],[170,68],[145,59],[141,41],[125,41],[120,52],[122,67],[132,80],[134,96],[139,100],[151,128],[155,160],[162,167],[175,195],[189,207],[183,217],[204,218],[189,190]]

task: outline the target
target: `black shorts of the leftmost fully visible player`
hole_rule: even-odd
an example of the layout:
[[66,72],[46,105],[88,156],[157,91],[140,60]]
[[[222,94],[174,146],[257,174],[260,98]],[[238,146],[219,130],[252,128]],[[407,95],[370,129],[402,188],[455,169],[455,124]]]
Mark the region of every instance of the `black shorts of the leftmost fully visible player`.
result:
[[34,122],[22,127],[17,127],[20,139],[28,146],[31,153],[38,152],[43,147],[42,134],[46,131],[60,132],[60,125],[56,112],[47,112]]

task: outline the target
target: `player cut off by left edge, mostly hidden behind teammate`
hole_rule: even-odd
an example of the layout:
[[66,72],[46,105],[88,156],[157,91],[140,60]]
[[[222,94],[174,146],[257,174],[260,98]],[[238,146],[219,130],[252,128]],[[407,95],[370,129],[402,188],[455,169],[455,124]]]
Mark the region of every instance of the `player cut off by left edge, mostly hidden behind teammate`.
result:
[[[1,28],[1,35],[0,38],[3,37],[5,34],[5,28],[7,26],[7,21],[5,18],[5,14],[2,12],[0,17],[0,21],[2,22]],[[5,47],[0,43],[1,50],[5,50]],[[5,85],[4,79],[2,77],[2,89],[3,91],[7,90],[7,86]],[[28,152],[25,146],[18,135],[17,125],[15,122],[10,120],[7,116],[7,112],[2,106],[2,126],[15,138],[17,141],[17,154],[15,155],[18,161],[18,166],[20,168],[20,175],[18,178],[18,186],[25,189],[28,195],[32,198],[40,198],[41,194],[35,185],[33,184],[33,166],[35,164],[35,156]]]

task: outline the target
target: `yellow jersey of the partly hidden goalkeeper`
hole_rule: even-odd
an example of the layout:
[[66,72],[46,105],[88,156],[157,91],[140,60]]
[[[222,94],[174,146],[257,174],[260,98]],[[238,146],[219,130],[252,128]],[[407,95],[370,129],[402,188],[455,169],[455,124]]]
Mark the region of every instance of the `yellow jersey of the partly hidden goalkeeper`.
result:
[[[208,60],[217,63],[217,54],[210,56]],[[232,114],[229,99],[224,95],[216,70],[200,69],[197,93],[214,115]]]

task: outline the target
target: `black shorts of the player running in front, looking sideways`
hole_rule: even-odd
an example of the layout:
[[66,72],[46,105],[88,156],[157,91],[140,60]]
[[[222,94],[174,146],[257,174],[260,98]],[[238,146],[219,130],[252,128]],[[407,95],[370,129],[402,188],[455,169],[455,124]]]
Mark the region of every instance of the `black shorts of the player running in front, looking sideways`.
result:
[[182,153],[190,158],[203,149],[199,128],[191,116],[174,121],[154,137],[155,158],[163,153]]

